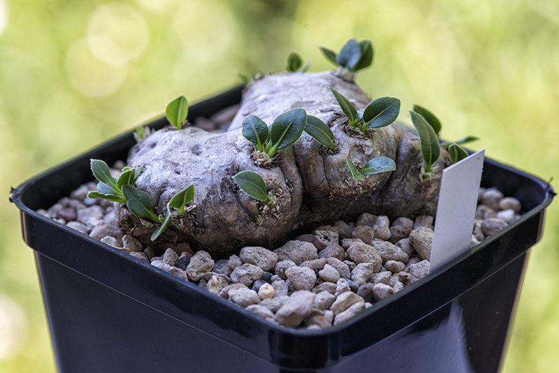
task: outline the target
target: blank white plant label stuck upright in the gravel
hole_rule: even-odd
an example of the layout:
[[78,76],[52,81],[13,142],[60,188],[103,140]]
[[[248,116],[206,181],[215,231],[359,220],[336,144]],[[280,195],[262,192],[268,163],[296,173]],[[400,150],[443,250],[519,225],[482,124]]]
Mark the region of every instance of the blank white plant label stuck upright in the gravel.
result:
[[485,149],[442,171],[429,272],[470,249]]

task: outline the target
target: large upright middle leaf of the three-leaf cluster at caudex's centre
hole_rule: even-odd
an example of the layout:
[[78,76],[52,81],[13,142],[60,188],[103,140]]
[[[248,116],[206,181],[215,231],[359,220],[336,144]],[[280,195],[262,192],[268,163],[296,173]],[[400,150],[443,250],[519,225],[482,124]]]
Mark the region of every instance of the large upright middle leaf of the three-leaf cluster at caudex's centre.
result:
[[291,109],[280,114],[274,119],[270,126],[270,152],[268,156],[272,158],[276,150],[284,149],[296,142],[307,124],[307,112],[305,109]]

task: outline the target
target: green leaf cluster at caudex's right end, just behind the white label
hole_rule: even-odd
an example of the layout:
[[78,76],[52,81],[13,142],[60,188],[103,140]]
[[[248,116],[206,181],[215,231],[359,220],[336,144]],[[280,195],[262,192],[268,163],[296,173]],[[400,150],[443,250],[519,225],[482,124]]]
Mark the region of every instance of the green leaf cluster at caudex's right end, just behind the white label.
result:
[[423,106],[414,105],[413,110],[409,111],[409,115],[412,117],[412,123],[417,133],[419,133],[421,154],[423,156],[424,179],[431,176],[431,167],[440,157],[439,145],[449,150],[451,163],[456,163],[467,157],[466,150],[460,145],[478,140],[475,136],[466,136],[454,142],[440,141],[439,134],[442,129],[442,124],[440,119],[437,118],[433,112],[423,108]]

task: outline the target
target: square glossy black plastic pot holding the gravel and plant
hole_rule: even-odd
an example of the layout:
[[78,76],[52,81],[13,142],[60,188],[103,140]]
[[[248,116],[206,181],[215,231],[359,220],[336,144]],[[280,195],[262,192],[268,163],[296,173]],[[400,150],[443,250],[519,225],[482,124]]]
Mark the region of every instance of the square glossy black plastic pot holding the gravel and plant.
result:
[[[191,106],[190,117],[239,100],[233,89]],[[125,159],[133,144],[127,133],[12,191],[35,250],[59,372],[500,370],[528,252],[554,196],[546,182],[486,159],[482,186],[521,200],[521,219],[345,323],[296,330],[34,211],[92,180],[89,159]]]

